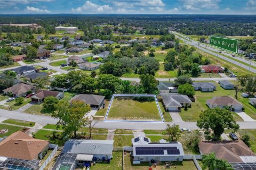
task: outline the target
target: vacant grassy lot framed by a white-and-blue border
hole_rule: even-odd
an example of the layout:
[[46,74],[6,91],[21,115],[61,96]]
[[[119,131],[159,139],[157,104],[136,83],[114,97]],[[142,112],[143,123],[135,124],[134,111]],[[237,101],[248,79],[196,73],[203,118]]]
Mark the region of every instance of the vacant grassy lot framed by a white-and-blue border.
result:
[[161,121],[162,118],[155,100],[138,101],[130,97],[115,97],[110,106],[107,120]]

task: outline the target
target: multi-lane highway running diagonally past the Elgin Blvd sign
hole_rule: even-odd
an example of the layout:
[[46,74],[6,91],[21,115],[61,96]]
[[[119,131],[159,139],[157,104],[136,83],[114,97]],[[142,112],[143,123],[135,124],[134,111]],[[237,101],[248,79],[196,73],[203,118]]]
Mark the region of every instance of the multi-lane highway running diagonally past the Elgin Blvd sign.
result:
[[[180,38],[181,40],[183,40],[184,42],[186,42],[186,44],[189,44],[189,45],[191,45],[191,46],[194,46],[194,47],[196,47],[196,48],[198,48],[198,49],[200,49],[200,50],[202,50],[202,51],[204,51],[204,52],[206,52],[206,53],[212,54],[212,55],[214,55],[214,56],[216,56],[216,57],[218,57],[218,58],[222,58],[223,60],[226,60],[226,61],[228,61],[228,62],[230,62],[230,63],[233,63],[233,64],[235,64],[235,65],[241,66],[241,67],[243,67],[244,69],[246,69],[246,70],[248,70],[248,71],[250,70],[251,72],[256,73],[256,69],[253,69],[253,68],[250,67],[250,66],[244,65],[244,64],[242,64],[242,63],[239,63],[239,62],[237,62],[237,61],[231,60],[230,58],[221,55],[221,54],[223,53],[224,55],[231,56],[231,55],[228,54],[228,53],[225,53],[225,52],[222,52],[222,53],[219,53],[219,54],[214,53],[214,52],[218,52],[218,50],[217,50],[217,49],[214,49],[214,48],[212,48],[212,47],[210,47],[210,46],[207,46],[207,47],[205,48],[205,45],[204,45],[204,44],[202,45],[202,44],[200,43],[200,44],[198,45],[198,42],[197,42],[197,41],[194,41],[194,40],[188,41],[188,40],[186,40],[186,39],[188,39],[188,38],[186,38],[186,36],[183,36],[183,35],[181,35],[181,34],[178,33],[178,32],[175,32],[175,34],[176,34],[176,36],[179,35],[179,38]],[[186,38],[186,39],[185,39],[185,38]],[[212,51],[214,51],[214,52],[212,52]],[[243,60],[242,58],[239,58],[239,57],[235,57],[235,58],[236,58],[237,60],[239,60],[239,61],[242,61],[242,62],[244,62],[244,63],[250,64],[250,61]],[[256,64],[253,63],[253,62],[251,62],[251,65],[256,66]]]

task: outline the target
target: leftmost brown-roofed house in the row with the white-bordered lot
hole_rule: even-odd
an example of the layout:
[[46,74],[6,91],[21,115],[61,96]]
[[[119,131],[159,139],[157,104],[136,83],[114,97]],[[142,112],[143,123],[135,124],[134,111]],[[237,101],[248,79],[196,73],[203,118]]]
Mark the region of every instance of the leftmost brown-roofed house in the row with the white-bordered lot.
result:
[[13,97],[25,96],[29,91],[34,92],[35,87],[24,83],[19,83],[3,90],[4,94],[8,95],[9,93],[11,93]]

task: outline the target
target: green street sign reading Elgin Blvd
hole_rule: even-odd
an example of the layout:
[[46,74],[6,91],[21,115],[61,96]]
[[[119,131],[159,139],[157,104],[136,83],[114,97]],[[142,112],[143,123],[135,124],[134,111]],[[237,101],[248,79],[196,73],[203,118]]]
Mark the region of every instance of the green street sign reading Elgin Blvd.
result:
[[237,53],[238,52],[238,40],[222,37],[210,37],[210,45],[219,47],[229,52]]

